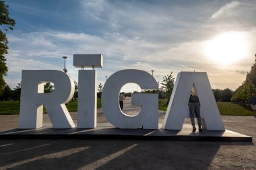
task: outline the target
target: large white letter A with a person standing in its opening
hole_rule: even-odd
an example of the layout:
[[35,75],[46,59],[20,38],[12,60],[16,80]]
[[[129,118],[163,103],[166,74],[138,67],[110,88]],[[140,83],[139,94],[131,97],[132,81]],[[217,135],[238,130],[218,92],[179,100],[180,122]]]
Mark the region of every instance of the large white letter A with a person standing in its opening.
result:
[[201,118],[204,119],[203,128],[206,130],[225,130],[210,81],[204,72],[180,72],[178,74],[162,128],[182,129],[184,118],[189,118],[187,105],[193,85],[201,104]]

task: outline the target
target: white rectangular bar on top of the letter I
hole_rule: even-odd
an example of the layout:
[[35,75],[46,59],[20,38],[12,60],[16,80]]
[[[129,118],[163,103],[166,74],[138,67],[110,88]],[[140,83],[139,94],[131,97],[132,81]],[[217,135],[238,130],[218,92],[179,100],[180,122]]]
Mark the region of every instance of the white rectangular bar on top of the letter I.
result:
[[102,68],[102,60],[101,54],[73,54],[74,67]]

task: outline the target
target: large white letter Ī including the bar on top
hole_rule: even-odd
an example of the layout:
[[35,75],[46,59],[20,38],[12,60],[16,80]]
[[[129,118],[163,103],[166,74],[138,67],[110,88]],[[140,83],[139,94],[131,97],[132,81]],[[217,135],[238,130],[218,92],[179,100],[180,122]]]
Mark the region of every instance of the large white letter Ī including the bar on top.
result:
[[[73,66],[102,67],[101,54],[74,54]],[[96,128],[97,96],[95,70],[81,70],[78,73],[77,128]]]

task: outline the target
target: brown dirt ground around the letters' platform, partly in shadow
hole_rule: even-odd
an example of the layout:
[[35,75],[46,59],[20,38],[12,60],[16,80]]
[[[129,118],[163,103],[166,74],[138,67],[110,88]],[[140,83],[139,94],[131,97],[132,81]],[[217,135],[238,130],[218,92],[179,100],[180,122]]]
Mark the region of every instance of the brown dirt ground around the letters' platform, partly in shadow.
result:
[[[76,114],[71,116],[75,121]],[[0,140],[0,169],[256,169],[256,118],[222,120],[226,129],[252,136],[253,142]],[[98,122],[105,121],[98,110]],[[18,115],[0,116],[0,132],[13,128]]]

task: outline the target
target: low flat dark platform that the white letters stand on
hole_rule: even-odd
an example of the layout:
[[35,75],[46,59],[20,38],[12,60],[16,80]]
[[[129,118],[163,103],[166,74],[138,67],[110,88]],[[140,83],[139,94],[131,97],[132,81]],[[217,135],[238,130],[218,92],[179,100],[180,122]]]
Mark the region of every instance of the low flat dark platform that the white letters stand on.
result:
[[[162,127],[162,124],[159,124]],[[226,131],[192,132],[190,124],[183,124],[182,130],[144,130],[119,129],[109,123],[98,123],[95,129],[54,129],[51,124],[44,124],[37,130],[13,129],[0,132],[0,139],[141,139],[141,140],[206,140],[206,141],[245,141],[251,142],[252,137]]]

